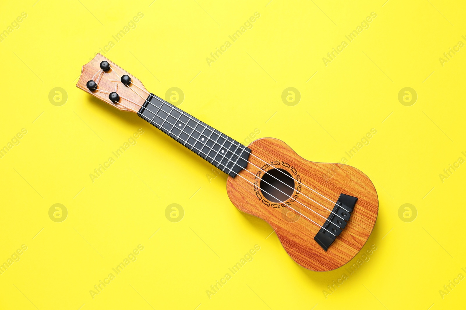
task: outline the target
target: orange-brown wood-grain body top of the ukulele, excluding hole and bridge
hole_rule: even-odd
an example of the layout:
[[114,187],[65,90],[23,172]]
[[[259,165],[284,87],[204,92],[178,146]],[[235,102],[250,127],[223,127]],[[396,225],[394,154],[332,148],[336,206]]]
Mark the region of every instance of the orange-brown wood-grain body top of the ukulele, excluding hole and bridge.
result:
[[[377,192],[370,179],[363,172],[349,165],[308,161],[278,139],[258,139],[248,147],[252,150],[252,154],[263,159],[268,166],[264,161],[251,155],[246,170],[241,171],[235,178],[228,177],[226,190],[232,203],[241,211],[267,221],[275,230],[289,256],[304,268],[327,271],[348,263],[366,243],[377,219]],[[281,204],[267,201],[261,194],[260,188],[256,189],[249,183],[258,182],[260,187],[259,178],[265,173],[260,169],[262,167],[265,171],[280,167],[290,172],[295,179],[293,197]],[[262,171],[260,177],[256,178],[260,171]],[[324,251],[314,240],[320,227],[286,207],[286,204],[289,204],[320,225],[325,222],[324,218],[329,216],[330,211],[315,202],[329,210],[333,209],[334,204],[304,186],[298,188],[302,184],[333,202],[337,201],[340,193],[358,198],[348,224],[330,245],[328,251]],[[294,221],[295,219],[297,220]]]

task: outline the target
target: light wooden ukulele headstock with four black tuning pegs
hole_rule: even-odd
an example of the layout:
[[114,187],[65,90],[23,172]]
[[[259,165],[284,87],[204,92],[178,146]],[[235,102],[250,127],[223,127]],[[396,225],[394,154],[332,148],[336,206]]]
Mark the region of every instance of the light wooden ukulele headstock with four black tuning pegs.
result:
[[149,95],[140,80],[100,53],[82,66],[76,86],[118,110],[135,113]]

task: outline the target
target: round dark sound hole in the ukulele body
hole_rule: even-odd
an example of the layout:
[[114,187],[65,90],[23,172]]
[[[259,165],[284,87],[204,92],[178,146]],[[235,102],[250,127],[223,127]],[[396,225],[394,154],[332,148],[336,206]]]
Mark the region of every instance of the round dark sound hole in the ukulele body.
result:
[[295,190],[295,180],[283,169],[271,169],[260,179],[260,191],[267,200],[283,202],[291,197]]

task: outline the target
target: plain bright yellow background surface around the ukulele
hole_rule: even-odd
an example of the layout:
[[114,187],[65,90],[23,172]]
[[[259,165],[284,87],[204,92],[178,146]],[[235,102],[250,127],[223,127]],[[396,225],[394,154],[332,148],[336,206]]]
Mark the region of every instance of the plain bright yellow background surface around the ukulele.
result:
[[[464,306],[466,280],[439,294],[466,276],[466,165],[439,178],[466,159],[466,47],[444,66],[439,61],[466,43],[464,3],[35,1],[2,1],[0,9],[0,31],[27,13],[0,42],[0,147],[27,129],[0,158],[0,263],[27,245],[0,275],[1,309]],[[116,42],[112,35],[138,12],[144,18]],[[254,12],[253,28],[208,66],[206,57]],[[325,66],[322,58],[371,12],[370,27]],[[349,159],[379,197],[363,248],[377,246],[370,260],[324,297],[344,267],[320,273],[295,264],[268,224],[233,207],[225,175],[209,182],[212,166],[203,159],[76,88],[81,66],[110,40],[105,56],[149,91],[164,97],[170,87],[182,89],[181,109],[240,142],[257,128],[256,138],[338,162],[377,129]],[[68,94],[62,106],[48,100],[55,87]],[[295,106],[281,100],[287,87],[301,93]],[[398,101],[403,87],[417,92],[414,105]],[[91,182],[89,174],[138,128],[137,144]],[[68,210],[61,223],[48,216],[56,203]],[[172,203],[185,211],[178,223],[165,218]],[[398,217],[405,203],[418,212],[409,223]],[[138,244],[137,260],[92,298],[89,290]],[[206,290],[254,244],[254,259],[209,299]]]

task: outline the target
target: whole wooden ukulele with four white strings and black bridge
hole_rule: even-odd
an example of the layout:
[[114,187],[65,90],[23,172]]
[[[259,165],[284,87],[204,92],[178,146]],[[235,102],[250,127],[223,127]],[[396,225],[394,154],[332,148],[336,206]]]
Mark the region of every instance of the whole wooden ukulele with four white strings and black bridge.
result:
[[270,224],[302,267],[341,267],[369,238],[377,219],[377,192],[356,168],[308,161],[274,138],[242,145],[148,92],[101,54],[82,66],[76,86],[119,110],[136,113],[225,172],[231,202]]

